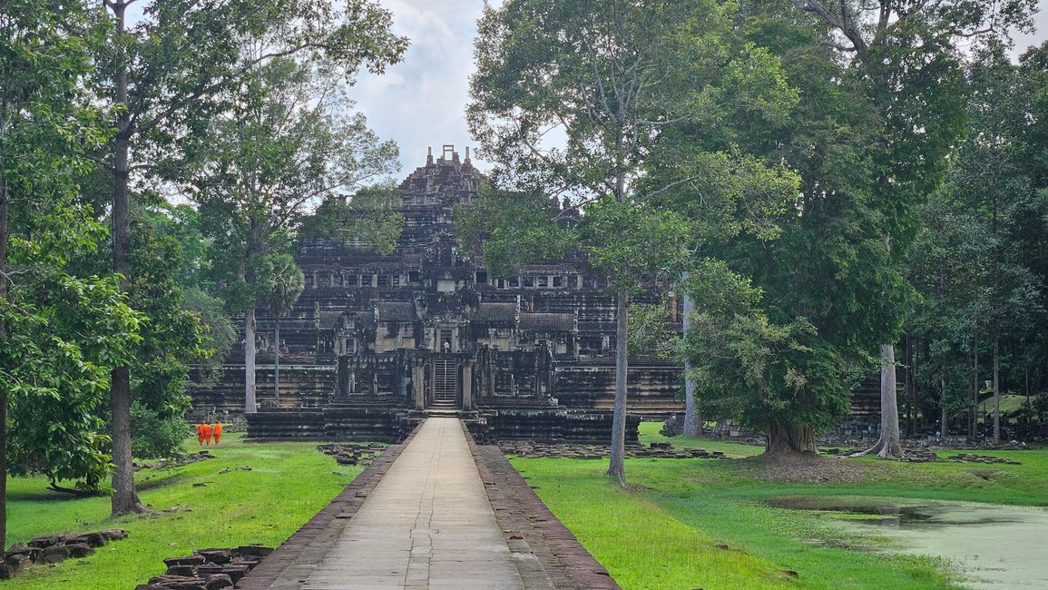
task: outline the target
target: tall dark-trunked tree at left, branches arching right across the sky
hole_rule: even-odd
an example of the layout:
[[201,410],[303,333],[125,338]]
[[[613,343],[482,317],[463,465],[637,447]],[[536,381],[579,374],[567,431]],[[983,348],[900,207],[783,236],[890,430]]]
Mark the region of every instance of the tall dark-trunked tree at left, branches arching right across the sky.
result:
[[[132,174],[166,154],[176,138],[201,130],[224,108],[218,94],[236,87],[260,64],[298,54],[324,61],[348,80],[361,67],[380,72],[399,59],[407,41],[390,32],[390,15],[368,0],[175,0],[146,5],[130,25],[135,0],[105,0],[112,40],[97,56],[96,87],[119,105],[115,139],[99,158],[112,174],[113,272],[126,280]],[[253,44],[258,50],[244,51]],[[134,490],[128,367],[113,371],[113,516],[145,508]]]

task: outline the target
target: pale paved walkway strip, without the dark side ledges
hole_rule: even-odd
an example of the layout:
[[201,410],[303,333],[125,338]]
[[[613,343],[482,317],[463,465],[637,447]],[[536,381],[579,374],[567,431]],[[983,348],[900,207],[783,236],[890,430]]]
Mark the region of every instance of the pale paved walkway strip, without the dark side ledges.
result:
[[520,564],[496,522],[461,423],[431,417],[308,576],[285,577],[271,588],[552,588],[541,568]]

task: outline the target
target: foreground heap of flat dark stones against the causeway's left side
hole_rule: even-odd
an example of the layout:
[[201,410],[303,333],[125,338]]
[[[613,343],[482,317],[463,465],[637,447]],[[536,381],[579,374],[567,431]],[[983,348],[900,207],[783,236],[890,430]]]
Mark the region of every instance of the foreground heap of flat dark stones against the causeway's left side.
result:
[[218,590],[247,575],[272,552],[261,545],[243,545],[225,549],[198,549],[192,555],[163,560],[168,571],[139,584],[135,590]]

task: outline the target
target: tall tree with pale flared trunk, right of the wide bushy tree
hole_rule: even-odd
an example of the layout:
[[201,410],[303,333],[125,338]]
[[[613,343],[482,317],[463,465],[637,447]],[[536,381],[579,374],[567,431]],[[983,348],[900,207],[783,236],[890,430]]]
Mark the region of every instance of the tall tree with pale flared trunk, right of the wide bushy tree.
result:
[[[871,137],[877,149],[870,190],[888,219],[883,239],[897,264],[913,239],[915,205],[940,182],[945,156],[962,131],[958,41],[1011,28],[1029,30],[1034,2],[791,2],[826,31],[822,43],[853,56],[849,70],[863,81],[869,104],[882,121]],[[880,457],[901,455],[895,379],[887,373],[894,367],[894,347],[883,344],[881,436],[867,451]]]

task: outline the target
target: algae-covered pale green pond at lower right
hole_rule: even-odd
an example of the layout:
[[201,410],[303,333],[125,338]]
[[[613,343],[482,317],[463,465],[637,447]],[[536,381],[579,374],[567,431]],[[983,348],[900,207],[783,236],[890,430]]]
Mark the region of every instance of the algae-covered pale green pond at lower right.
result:
[[771,506],[847,515],[840,526],[896,541],[898,553],[953,562],[969,588],[1048,588],[1048,509],[872,497],[793,497]]

